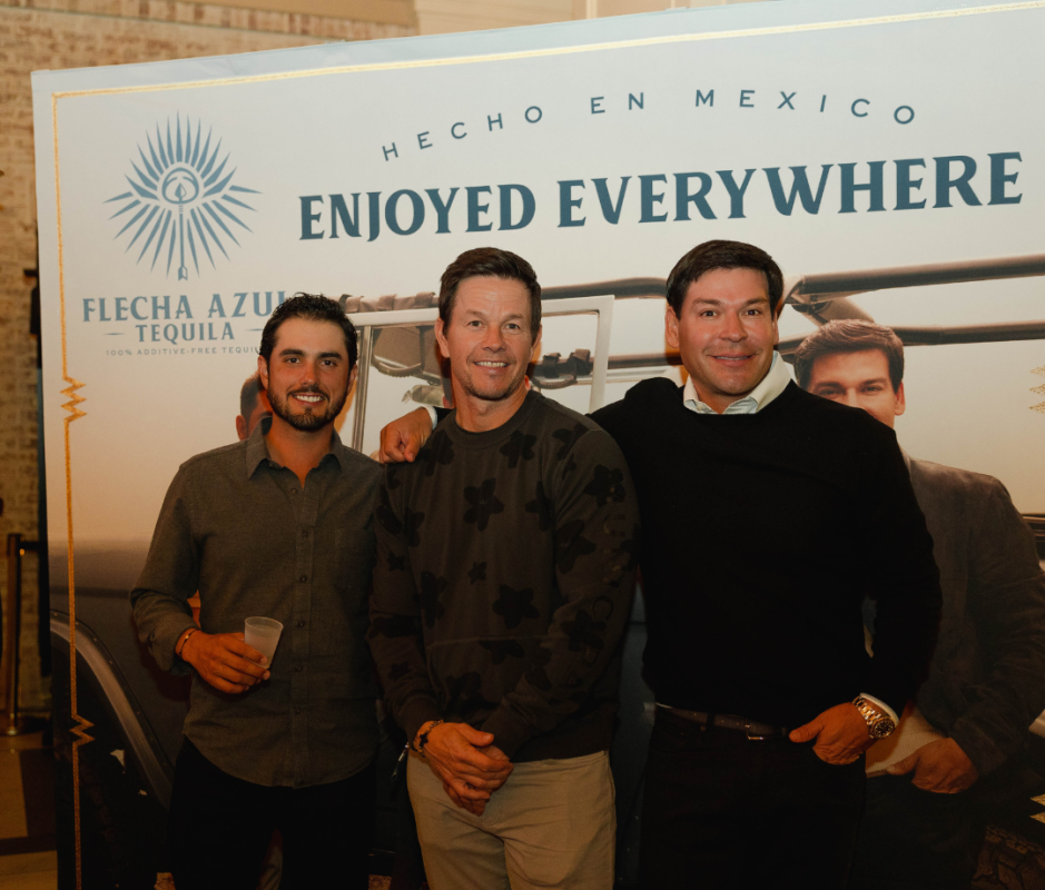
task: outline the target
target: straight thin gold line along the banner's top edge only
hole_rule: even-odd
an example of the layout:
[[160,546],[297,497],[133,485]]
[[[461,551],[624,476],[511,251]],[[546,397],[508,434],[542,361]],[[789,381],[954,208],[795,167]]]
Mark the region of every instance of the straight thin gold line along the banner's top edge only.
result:
[[552,56],[570,56],[579,52],[604,52],[614,49],[635,47],[655,47],[666,43],[693,43],[704,40],[732,40],[742,37],[775,37],[778,34],[805,33],[807,31],[834,31],[846,28],[865,28],[874,24],[900,24],[913,21],[933,21],[967,16],[986,16],[996,12],[1019,12],[1045,7],[1045,0],[1024,0],[1017,3],[1004,3],[990,7],[969,7],[968,9],[945,9],[931,12],[908,12],[897,16],[878,16],[865,19],[844,19],[841,21],[808,22],[805,24],[781,24],[770,28],[748,28],[735,31],[710,31],[707,33],[666,34],[635,40],[617,40],[609,43],[589,43],[573,47],[553,47],[550,49],[520,50],[499,52],[487,56],[460,56],[450,59],[415,59],[404,62],[373,62],[371,65],[345,65],[333,68],[314,68],[307,71],[284,71],[273,75],[247,75],[244,77],[216,78],[213,80],[189,80],[183,83],[154,83],[138,87],[111,87],[97,90],[69,90],[52,93],[52,99],[69,99],[82,96],[116,96],[126,92],[159,92],[164,90],[190,90],[200,87],[224,87],[238,83],[260,83],[273,80],[293,80],[302,77],[325,77],[328,75],[352,75],[364,71],[402,71],[412,68],[442,68],[454,65],[477,65],[482,62],[512,61],[515,59],[541,59]]

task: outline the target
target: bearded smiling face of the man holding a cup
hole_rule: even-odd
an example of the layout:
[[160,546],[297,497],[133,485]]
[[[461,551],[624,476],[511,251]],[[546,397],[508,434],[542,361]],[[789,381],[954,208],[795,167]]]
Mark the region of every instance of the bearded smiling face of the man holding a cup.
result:
[[288,318],[276,332],[268,363],[258,358],[273,414],[299,432],[323,429],[341,413],[356,369],[345,335],[329,322]]

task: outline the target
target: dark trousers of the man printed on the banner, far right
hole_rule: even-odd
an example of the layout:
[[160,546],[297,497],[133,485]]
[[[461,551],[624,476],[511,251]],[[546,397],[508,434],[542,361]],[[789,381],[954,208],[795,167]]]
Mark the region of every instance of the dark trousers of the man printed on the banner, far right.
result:
[[849,890],[968,890],[984,825],[970,791],[934,794],[910,775],[867,780]]

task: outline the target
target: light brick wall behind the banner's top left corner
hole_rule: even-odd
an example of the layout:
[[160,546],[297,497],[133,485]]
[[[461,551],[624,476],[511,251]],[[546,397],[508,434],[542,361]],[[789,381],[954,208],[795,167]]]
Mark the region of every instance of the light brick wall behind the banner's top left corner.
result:
[[[415,29],[208,3],[0,0],[0,589],[4,609],[7,536],[13,532],[36,540],[38,535],[37,344],[29,334],[34,281],[23,273],[37,265],[30,72],[410,33]],[[36,557],[29,554],[23,566],[19,698],[24,710],[42,710],[50,706],[50,691],[39,671]]]

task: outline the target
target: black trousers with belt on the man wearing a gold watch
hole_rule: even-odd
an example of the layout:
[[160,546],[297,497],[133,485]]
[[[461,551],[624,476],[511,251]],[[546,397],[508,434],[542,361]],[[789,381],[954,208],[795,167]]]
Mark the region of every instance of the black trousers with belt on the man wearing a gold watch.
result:
[[749,740],[658,709],[645,771],[640,868],[661,888],[844,888],[864,800],[864,758]]

